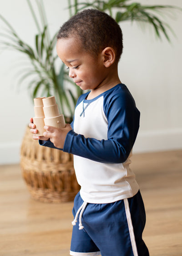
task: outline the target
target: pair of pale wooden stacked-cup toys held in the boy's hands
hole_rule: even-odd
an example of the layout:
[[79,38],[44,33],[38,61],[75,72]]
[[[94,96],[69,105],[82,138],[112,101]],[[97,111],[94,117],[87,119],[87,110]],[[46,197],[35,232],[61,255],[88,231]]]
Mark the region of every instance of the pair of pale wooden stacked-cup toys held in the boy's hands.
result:
[[33,122],[38,130],[36,133],[38,136],[43,136],[45,125],[65,128],[64,116],[60,114],[54,96],[35,98],[34,105],[35,117],[33,117]]

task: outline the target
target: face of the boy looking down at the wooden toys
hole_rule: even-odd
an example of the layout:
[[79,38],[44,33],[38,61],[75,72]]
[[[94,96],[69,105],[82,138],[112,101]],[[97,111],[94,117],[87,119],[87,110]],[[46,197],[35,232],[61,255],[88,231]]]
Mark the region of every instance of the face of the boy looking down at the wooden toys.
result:
[[104,84],[106,68],[101,54],[95,57],[87,53],[74,37],[59,39],[56,50],[69,68],[69,76],[82,90],[94,90]]

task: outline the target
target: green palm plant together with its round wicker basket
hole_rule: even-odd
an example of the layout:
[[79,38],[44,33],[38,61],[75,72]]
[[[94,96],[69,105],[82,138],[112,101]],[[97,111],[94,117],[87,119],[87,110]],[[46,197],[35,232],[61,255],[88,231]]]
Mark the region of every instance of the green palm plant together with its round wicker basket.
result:
[[[27,0],[33,20],[37,28],[35,47],[23,41],[10,23],[0,15],[7,30],[0,33],[1,45],[23,53],[29,60],[29,67],[21,69],[19,84],[27,84],[32,99],[37,96],[56,97],[60,112],[71,121],[77,98],[81,89],[68,77],[64,64],[57,70],[55,53],[56,34],[51,38],[47,25],[43,0],[36,0],[40,21],[35,10]],[[157,35],[170,41],[170,27],[161,19],[165,11],[168,13],[179,9],[169,5],[142,5],[131,0],[68,0],[70,16],[85,8],[96,8],[109,13],[116,22],[140,21],[150,24]],[[31,150],[30,150],[31,149]],[[72,156],[60,150],[40,147],[33,141],[27,128],[21,147],[22,174],[31,195],[40,201],[63,202],[72,200],[79,190],[76,182]]]

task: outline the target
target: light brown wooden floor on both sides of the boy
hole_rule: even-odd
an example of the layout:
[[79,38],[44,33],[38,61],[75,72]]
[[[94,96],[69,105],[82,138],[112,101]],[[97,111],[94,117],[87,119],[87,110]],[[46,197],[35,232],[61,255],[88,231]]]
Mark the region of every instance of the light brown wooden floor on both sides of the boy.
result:
[[[131,160],[147,213],[143,238],[150,256],[182,256],[182,150]],[[72,206],[33,200],[20,166],[1,165],[0,256],[68,256]]]

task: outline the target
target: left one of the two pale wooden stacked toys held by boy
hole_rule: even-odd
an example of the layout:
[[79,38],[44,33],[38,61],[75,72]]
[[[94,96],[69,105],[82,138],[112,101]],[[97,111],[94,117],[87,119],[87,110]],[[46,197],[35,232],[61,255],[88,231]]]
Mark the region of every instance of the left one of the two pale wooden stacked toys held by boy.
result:
[[33,122],[36,126],[36,129],[38,130],[38,133],[36,133],[38,136],[42,136],[43,133],[45,132],[44,126],[44,110],[43,110],[43,101],[45,97],[39,97],[34,99],[34,112],[35,112],[35,117],[33,117]]

